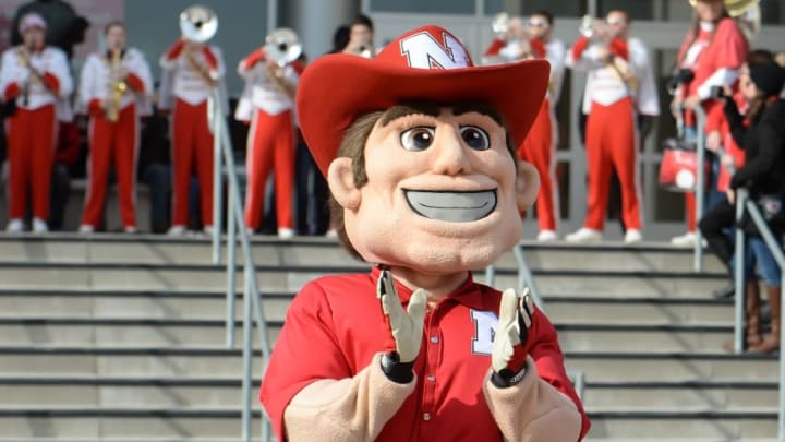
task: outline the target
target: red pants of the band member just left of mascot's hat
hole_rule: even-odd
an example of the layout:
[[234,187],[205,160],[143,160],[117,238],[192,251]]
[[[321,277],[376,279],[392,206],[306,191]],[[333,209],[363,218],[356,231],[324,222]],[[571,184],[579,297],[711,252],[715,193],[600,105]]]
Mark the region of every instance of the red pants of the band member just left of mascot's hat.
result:
[[291,111],[269,115],[254,111],[247,138],[247,189],[245,224],[257,229],[262,224],[265,187],[270,168],[275,175],[278,228],[292,228],[292,191],[294,181],[294,128]]

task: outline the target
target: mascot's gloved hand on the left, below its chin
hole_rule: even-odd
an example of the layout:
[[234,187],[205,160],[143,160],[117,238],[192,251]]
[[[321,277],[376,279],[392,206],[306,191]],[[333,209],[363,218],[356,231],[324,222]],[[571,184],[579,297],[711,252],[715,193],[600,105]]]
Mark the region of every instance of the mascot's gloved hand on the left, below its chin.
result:
[[382,370],[392,382],[409,383],[414,377],[412,368],[422,344],[427,295],[423,289],[414,291],[409,299],[408,311],[404,312],[392,277],[388,271],[383,270],[376,284],[376,296],[382,304],[387,332]]

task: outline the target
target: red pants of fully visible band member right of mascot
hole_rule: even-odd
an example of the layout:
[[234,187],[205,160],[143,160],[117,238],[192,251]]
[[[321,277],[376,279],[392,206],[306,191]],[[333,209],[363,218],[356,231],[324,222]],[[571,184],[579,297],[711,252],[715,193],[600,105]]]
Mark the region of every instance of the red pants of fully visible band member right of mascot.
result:
[[609,106],[592,103],[587,119],[589,210],[583,227],[602,230],[605,225],[611,172],[621,187],[621,217],[627,229],[640,229],[637,168],[638,143],[632,100],[627,97]]

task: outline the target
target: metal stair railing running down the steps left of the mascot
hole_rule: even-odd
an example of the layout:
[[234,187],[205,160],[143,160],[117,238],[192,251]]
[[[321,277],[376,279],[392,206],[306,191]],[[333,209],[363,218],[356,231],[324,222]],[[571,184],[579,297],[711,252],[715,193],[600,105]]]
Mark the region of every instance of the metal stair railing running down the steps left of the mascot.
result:
[[[229,348],[234,348],[234,311],[237,307],[237,242],[240,241],[243,263],[243,377],[242,377],[242,440],[250,442],[252,437],[253,407],[253,326],[254,322],[258,331],[258,338],[262,349],[262,370],[264,377],[267,368],[267,360],[270,355],[269,336],[267,335],[267,323],[262,307],[258,282],[256,280],[256,266],[254,265],[251,251],[251,240],[245,226],[243,204],[240,198],[240,182],[237,167],[234,165],[234,153],[232,150],[229,128],[222,109],[222,101],[218,89],[214,89],[208,101],[208,121],[214,136],[214,189],[213,189],[213,262],[221,262],[221,216],[224,177],[227,180],[227,312],[226,312],[226,339]],[[270,440],[270,422],[264,408],[262,409],[262,440]]]

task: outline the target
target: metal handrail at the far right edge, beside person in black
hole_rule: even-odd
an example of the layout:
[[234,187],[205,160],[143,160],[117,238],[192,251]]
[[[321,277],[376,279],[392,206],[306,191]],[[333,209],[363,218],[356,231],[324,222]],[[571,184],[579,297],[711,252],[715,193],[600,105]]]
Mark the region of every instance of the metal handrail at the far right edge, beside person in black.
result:
[[[750,215],[752,223],[754,223],[758,232],[765,241],[766,247],[771,250],[774,259],[780,266],[780,292],[785,292],[785,253],[774,238],[769,225],[763,215],[760,213],[760,208],[754,201],[749,199],[747,189],[738,189],[736,191],[736,268],[735,268],[735,285],[736,285],[736,324],[734,327],[734,349],[737,354],[744,351],[744,326],[745,326],[745,270],[744,270],[744,255],[745,255],[745,231],[740,227],[744,219],[745,211]],[[782,296],[782,295],[781,295]],[[785,314],[785,304],[780,303],[780,318]],[[785,330],[780,327],[780,343],[785,342]],[[782,344],[781,344],[782,345]],[[777,434],[780,442],[785,442],[785,351],[780,349],[780,409],[777,413]]]

